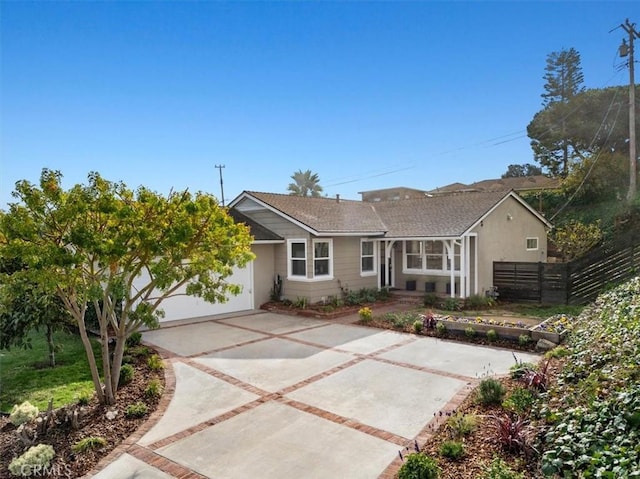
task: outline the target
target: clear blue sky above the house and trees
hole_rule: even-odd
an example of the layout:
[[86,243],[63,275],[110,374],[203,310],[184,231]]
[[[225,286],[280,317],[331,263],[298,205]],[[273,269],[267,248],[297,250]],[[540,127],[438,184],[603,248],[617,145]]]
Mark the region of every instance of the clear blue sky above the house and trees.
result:
[[533,163],[545,60],[628,82],[639,2],[2,2],[0,208],[16,181],[98,171],[161,193],[329,196]]

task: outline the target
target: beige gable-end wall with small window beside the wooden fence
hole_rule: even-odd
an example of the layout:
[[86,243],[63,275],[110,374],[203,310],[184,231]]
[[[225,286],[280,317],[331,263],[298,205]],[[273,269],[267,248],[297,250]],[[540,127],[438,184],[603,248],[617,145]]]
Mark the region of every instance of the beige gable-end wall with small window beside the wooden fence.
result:
[[[493,285],[494,261],[547,261],[545,225],[513,198],[507,198],[473,231],[478,233],[480,294]],[[526,238],[538,238],[538,249],[527,251]]]

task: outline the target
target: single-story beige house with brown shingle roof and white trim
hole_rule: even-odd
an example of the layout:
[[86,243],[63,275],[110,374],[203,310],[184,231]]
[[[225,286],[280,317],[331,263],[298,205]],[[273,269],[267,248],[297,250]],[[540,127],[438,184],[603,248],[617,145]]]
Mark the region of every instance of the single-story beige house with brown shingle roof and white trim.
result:
[[514,191],[377,202],[245,191],[229,213],[254,237],[256,259],[230,278],[243,292],[225,304],[183,296],[165,321],[255,309],[274,292],[310,303],[360,288],[483,295],[494,261],[545,262],[551,228]]

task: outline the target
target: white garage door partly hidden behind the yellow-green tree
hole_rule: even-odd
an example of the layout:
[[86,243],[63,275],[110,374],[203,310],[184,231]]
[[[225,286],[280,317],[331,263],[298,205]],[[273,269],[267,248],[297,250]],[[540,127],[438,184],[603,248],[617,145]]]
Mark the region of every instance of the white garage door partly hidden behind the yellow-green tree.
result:
[[[226,303],[215,304],[195,296],[172,296],[165,299],[160,305],[160,308],[165,312],[165,316],[160,322],[166,323],[178,319],[200,318],[253,309],[253,263],[249,263],[245,268],[234,269],[233,274],[227,278],[227,282],[241,285],[242,292],[238,296],[229,296]],[[184,288],[182,292],[184,292]]]

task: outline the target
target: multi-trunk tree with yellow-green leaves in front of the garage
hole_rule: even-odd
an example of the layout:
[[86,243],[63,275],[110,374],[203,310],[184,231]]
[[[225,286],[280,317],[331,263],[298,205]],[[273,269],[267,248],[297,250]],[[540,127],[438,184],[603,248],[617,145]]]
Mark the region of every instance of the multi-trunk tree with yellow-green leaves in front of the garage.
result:
[[[98,173],[65,191],[61,180],[45,169],[39,187],[16,183],[19,201],[0,218],[0,257],[27,267],[0,279],[55,291],[78,326],[98,399],[114,404],[126,339],[141,326],[157,327],[162,301],[172,295],[224,302],[238,294],[226,278],[253,259],[251,236],[208,194],[134,192]],[[88,308],[99,324],[102,374]]]

